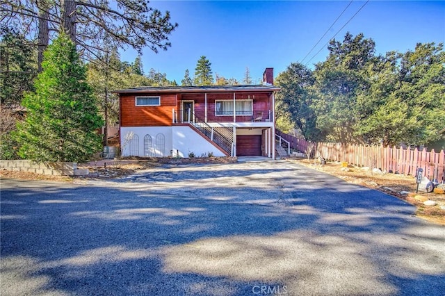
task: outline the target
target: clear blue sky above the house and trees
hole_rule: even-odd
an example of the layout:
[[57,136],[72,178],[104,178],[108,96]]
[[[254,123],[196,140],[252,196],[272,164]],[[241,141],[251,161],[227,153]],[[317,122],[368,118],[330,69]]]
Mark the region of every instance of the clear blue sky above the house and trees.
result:
[[[170,35],[172,47],[154,54],[143,51],[145,72],[154,68],[177,83],[189,69],[191,76],[200,56],[207,56],[213,74],[243,80],[245,67],[255,82],[266,67],[277,76],[314,47],[350,1],[150,1],[170,11],[179,26]],[[353,17],[365,1],[353,1],[303,63],[325,60],[324,46]],[[445,41],[445,1],[369,1],[335,36],[346,31],[372,38],[378,54],[413,50],[417,42]],[[317,51],[320,53],[310,60]],[[136,52],[121,51],[133,62]],[[309,61],[310,60],[310,61]]]

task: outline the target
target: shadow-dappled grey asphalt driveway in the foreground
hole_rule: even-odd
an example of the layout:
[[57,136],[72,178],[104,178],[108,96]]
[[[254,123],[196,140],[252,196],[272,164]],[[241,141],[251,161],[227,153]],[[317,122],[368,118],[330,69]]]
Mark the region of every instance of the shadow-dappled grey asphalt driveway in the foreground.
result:
[[284,161],[1,180],[6,295],[445,295],[445,227]]

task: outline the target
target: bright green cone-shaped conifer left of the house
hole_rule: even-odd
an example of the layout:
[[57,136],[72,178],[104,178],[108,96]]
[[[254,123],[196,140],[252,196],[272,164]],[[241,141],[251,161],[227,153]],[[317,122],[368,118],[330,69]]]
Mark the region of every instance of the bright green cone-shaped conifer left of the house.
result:
[[61,33],[44,53],[35,93],[22,102],[27,115],[17,124],[19,155],[33,161],[88,161],[101,149],[97,114],[86,67],[76,45]]

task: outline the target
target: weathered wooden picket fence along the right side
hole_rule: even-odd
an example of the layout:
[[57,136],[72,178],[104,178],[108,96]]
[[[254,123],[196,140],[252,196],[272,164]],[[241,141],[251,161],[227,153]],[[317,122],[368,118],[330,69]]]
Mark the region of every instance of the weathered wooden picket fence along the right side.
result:
[[386,172],[415,176],[419,168],[423,176],[430,180],[445,182],[444,150],[428,152],[426,149],[403,149],[402,147],[383,147],[352,145],[327,142],[309,142],[277,130],[277,135],[291,145],[291,149],[323,157],[328,161],[347,162],[360,167],[377,167]]

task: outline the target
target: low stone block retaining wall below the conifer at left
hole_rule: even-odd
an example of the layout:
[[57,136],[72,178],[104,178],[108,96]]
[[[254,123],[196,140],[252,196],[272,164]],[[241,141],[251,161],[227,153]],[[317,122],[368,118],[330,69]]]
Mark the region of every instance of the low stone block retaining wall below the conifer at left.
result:
[[79,176],[88,174],[88,170],[79,170],[77,163],[35,163],[34,161],[3,161],[0,160],[0,169],[33,172],[36,174],[54,174],[58,176]]

